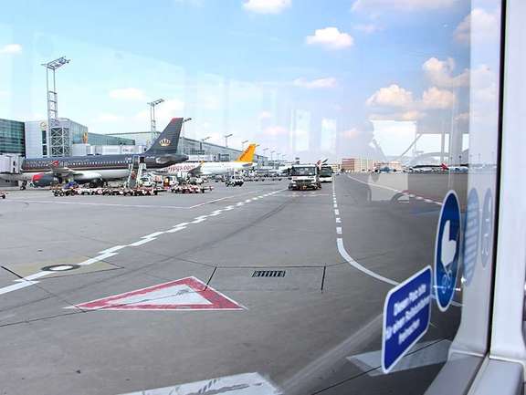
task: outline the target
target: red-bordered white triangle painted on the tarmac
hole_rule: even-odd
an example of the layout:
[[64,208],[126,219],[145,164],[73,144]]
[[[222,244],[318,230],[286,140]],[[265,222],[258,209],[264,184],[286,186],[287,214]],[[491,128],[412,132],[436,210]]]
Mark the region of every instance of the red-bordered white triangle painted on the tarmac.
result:
[[234,300],[191,277],[75,305],[83,310],[243,310]]

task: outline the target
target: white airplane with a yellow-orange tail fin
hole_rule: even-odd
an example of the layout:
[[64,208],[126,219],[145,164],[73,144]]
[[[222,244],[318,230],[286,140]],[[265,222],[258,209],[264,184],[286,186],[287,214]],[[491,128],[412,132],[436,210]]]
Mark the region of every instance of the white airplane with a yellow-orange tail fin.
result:
[[256,144],[250,144],[236,161],[200,161],[194,163],[177,163],[157,171],[162,174],[186,172],[192,175],[221,175],[228,172],[249,169],[252,167]]

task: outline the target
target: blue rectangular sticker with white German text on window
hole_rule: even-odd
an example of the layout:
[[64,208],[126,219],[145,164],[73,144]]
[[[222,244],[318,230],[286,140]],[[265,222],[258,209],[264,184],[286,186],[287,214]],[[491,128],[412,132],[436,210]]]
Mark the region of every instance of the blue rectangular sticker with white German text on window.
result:
[[385,297],[382,369],[388,373],[424,336],[431,319],[431,266],[391,289]]

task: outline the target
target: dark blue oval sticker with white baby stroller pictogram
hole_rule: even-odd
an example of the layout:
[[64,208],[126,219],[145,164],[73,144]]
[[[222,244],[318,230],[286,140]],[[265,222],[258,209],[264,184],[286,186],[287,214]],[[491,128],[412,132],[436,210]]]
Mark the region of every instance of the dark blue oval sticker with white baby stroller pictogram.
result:
[[460,205],[455,191],[447,192],[435,241],[435,292],[440,311],[446,311],[455,295],[460,251]]

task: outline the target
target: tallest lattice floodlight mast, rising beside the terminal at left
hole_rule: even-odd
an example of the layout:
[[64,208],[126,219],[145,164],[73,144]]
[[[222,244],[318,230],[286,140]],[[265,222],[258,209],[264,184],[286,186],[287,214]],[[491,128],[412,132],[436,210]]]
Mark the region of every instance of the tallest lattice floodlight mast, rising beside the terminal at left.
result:
[[[58,59],[51,60],[47,63],[42,63],[41,66],[44,66],[46,68],[46,100],[47,100],[47,143],[49,145],[49,150],[47,151],[47,154],[50,156],[64,156],[69,154],[69,147],[66,152],[66,147],[64,146],[64,141],[68,140],[65,139],[66,136],[64,136],[64,130],[61,130],[57,136],[57,139],[54,139],[55,136],[50,136],[50,128],[51,124],[53,126],[56,126],[57,120],[58,120],[58,95],[57,95],[57,83],[55,79],[55,70],[57,68],[61,68],[64,65],[67,65],[69,63],[69,59],[66,57],[58,57]],[[49,87],[49,70],[53,71],[52,74],[52,84],[53,84],[53,90],[50,90]],[[60,144],[61,147],[56,147],[54,140],[62,141]],[[55,151],[55,152],[53,152]],[[45,155],[47,156],[47,155]]]

